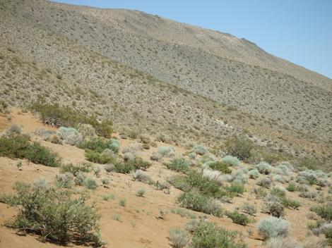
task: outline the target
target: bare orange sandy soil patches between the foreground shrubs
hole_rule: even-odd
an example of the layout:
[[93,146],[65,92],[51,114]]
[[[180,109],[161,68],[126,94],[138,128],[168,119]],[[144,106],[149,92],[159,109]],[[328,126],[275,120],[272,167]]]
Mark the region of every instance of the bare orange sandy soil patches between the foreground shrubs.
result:
[[[36,128],[50,128],[43,125],[31,113],[21,113],[18,109],[13,109],[11,112],[11,123],[19,124],[24,132],[33,132]],[[0,132],[4,130],[9,121],[6,116],[0,116]],[[117,134],[114,136],[119,137]],[[85,161],[84,151],[69,145],[51,144],[44,142],[38,137],[34,139],[39,140],[43,145],[56,151],[64,162],[81,163]],[[119,139],[121,148],[128,147],[133,142],[132,140]],[[158,143],[158,146],[165,146],[167,144]],[[143,150],[138,153],[144,159],[149,159],[150,154],[155,151],[155,147],[149,150]],[[175,147],[177,154],[182,154],[186,151],[183,147]],[[55,175],[59,173],[59,168],[49,168],[34,163],[29,163],[23,160],[22,171],[16,168],[18,160],[0,157],[0,192],[12,192],[13,183],[20,180],[23,182],[34,182],[37,179],[45,178],[50,182],[54,182]],[[95,165],[100,166],[100,165]],[[246,166],[246,165],[244,165]],[[153,180],[165,180],[168,176],[174,175],[174,172],[167,170],[162,163],[153,162],[153,166],[148,168],[147,173]],[[93,177],[93,175],[90,175]],[[143,182],[135,182],[131,179],[131,175],[123,175],[119,173],[106,173],[102,170],[102,174],[97,181],[101,185],[101,178],[109,178],[110,185],[108,188],[98,187],[95,191],[90,191],[91,201],[96,202],[99,212],[101,213],[100,229],[102,237],[107,241],[106,247],[117,248],[143,248],[143,247],[170,247],[168,230],[174,226],[184,226],[190,219],[181,217],[171,212],[171,209],[178,208],[176,197],[179,190],[171,188],[170,194],[165,194],[162,191],[154,190],[152,186],[146,185]],[[241,206],[244,202],[251,202],[256,204],[258,209],[261,209],[262,202],[250,193],[250,189],[254,187],[255,181],[249,180],[246,185],[247,192],[243,196],[235,197],[232,204],[224,204],[224,209],[234,210],[237,206]],[[144,188],[146,190],[145,197],[137,197],[136,190]],[[102,199],[103,195],[114,194],[114,199],[108,202]],[[296,192],[287,192],[291,198],[297,197]],[[120,206],[119,201],[126,200],[126,206]],[[300,199],[300,198],[299,198]],[[309,213],[309,207],[313,205],[312,202],[306,199],[300,199],[302,206],[300,211],[286,210],[287,220],[291,223],[291,233],[297,240],[304,240],[307,233],[306,219]],[[160,211],[165,213],[164,218],[158,218]],[[189,211],[189,210],[186,210]],[[189,211],[196,216],[203,216],[203,213]],[[120,221],[112,218],[114,213],[121,215]],[[0,247],[16,248],[16,247],[58,247],[56,244],[49,242],[42,242],[33,235],[18,235],[16,230],[6,227],[6,223],[16,214],[16,209],[8,208],[6,204],[0,204]],[[254,217],[255,221],[267,216],[265,213],[257,213]],[[211,221],[222,225],[227,230],[238,230],[243,234],[244,241],[249,248],[261,247],[261,237],[256,232],[256,223],[250,223],[246,227],[232,223],[227,218],[215,218],[208,216]],[[252,234],[249,235],[249,231]],[[73,244],[70,247],[76,247]]]

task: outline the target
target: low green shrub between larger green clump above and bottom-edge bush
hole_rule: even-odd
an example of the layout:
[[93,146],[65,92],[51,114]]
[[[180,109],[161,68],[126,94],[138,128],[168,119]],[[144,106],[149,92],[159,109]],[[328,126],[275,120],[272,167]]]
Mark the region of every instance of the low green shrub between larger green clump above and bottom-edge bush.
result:
[[222,216],[221,206],[216,207],[214,199],[206,197],[196,191],[184,192],[179,195],[177,201],[186,209]]

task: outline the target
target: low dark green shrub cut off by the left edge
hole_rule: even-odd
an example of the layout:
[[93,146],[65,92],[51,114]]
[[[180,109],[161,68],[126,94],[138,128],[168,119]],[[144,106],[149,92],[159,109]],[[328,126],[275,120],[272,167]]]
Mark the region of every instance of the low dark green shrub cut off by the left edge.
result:
[[32,163],[40,163],[44,166],[56,167],[60,165],[57,154],[39,143],[30,143],[25,135],[0,137],[0,156],[10,158],[28,159]]

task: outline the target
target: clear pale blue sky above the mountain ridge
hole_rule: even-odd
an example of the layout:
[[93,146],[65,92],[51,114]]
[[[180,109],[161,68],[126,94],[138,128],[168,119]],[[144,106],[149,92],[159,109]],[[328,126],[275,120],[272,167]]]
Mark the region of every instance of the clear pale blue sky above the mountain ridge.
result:
[[239,38],[332,78],[332,0],[57,0],[156,14]]

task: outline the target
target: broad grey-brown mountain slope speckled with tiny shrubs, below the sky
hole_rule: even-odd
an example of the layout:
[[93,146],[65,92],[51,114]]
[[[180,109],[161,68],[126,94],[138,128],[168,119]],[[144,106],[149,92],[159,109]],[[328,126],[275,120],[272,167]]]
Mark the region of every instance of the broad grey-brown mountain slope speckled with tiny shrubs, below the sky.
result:
[[[3,53],[13,50],[24,63],[93,92],[91,105],[70,94],[63,103],[78,101],[77,108],[111,116],[119,128],[135,123],[179,140],[210,142],[247,130],[277,141],[273,147],[328,147],[331,80],[321,83],[323,76],[297,66],[285,74],[278,68],[283,61],[250,42],[138,11],[28,0],[1,1],[0,13]],[[35,99],[13,97],[10,85],[22,77],[3,78],[8,101]],[[44,94],[47,80],[34,78]]]

